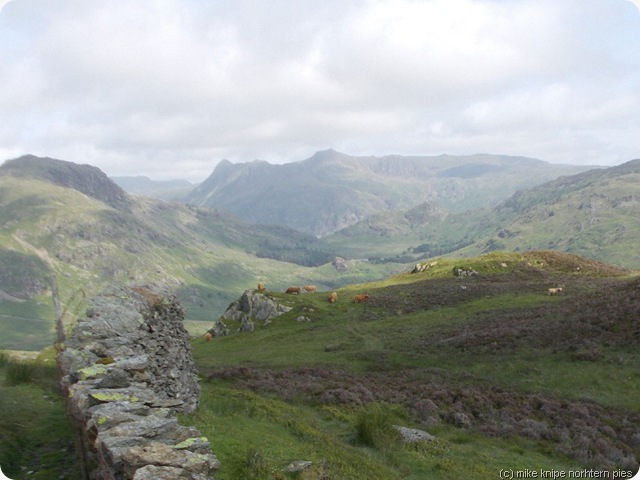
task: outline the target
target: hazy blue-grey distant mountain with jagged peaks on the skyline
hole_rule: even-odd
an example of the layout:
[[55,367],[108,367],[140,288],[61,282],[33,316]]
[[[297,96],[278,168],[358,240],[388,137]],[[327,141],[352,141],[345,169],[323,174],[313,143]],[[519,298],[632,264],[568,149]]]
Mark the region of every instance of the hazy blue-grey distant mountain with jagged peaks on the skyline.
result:
[[322,237],[424,202],[454,212],[493,206],[518,189],[588,168],[504,155],[354,157],[326,150],[284,165],[223,160],[185,201]]

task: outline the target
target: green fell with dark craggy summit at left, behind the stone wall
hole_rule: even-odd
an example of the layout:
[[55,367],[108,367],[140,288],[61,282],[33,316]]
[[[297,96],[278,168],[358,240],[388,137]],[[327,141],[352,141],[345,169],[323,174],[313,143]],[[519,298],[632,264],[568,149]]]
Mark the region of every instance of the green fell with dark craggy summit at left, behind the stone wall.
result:
[[108,285],[143,283],[178,295],[189,320],[206,320],[260,281],[284,290],[346,284],[362,279],[363,269],[372,275],[364,264],[340,273],[334,257],[286,227],[130,196],[95,167],[33,156],[7,161],[0,167],[0,348],[51,343],[51,275],[70,318],[82,298]]

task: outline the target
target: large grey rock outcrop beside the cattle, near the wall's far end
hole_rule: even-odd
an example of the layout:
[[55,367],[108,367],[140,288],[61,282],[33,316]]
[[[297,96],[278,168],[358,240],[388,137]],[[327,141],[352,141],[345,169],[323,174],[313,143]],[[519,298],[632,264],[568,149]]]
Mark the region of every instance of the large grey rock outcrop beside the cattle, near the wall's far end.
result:
[[240,323],[238,332],[252,332],[255,329],[255,322],[268,325],[271,320],[288,312],[291,308],[278,303],[264,293],[246,290],[240,299],[229,305],[209,332],[214,336],[227,335],[229,329],[225,322],[228,321]]

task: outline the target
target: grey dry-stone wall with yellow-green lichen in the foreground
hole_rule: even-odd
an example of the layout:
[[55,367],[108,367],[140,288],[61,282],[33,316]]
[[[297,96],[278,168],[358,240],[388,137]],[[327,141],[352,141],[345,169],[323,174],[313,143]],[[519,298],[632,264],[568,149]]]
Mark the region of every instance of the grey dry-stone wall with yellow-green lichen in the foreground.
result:
[[174,298],[113,289],[65,342],[58,367],[87,478],[213,478],[209,441],[176,419],[200,395],[183,319]]

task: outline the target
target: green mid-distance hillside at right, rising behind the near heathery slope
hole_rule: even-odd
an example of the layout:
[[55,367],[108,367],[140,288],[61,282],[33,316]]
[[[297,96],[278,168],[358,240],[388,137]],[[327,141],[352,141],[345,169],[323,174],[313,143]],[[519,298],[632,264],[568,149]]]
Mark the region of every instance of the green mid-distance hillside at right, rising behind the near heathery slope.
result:
[[556,249],[640,268],[640,160],[562,176],[519,190],[493,208],[441,212],[407,222],[407,212],[372,216],[323,240],[343,255],[410,262],[442,254]]

